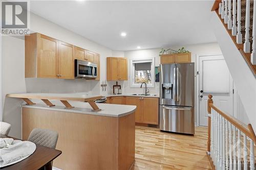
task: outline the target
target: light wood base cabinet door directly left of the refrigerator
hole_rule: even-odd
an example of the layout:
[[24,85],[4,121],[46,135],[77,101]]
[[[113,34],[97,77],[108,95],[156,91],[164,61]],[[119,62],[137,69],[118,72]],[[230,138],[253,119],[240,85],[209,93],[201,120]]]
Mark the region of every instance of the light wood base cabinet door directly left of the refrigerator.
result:
[[143,123],[159,124],[159,99],[158,98],[143,98]]

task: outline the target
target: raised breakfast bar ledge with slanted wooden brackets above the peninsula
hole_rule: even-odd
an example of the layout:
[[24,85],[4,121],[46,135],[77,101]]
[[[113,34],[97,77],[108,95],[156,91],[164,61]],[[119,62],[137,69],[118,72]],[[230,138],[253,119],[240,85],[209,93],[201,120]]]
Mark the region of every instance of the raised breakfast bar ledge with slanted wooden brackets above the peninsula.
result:
[[8,98],[20,98],[23,99],[27,105],[34,105],[29,99],[41,99],[49,107],[55,106],[49,100],[59,100],[67,109],[74,108],[70,105],[68,101],[79,101],[79,102],[88,102],[93,108],[93,111],[99,111],[101,109],[95,104],[94,100],[102,98],[99,96],[71,96],[69,94],[58,94],[58,93],[21,93],[21,94],[6,94]]

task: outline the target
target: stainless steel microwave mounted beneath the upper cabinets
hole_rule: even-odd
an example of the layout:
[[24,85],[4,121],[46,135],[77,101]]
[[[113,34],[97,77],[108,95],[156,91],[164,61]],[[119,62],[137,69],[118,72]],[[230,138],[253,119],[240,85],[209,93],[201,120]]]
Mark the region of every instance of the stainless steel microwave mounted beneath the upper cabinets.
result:
[[75,78],[96,78],[97,64],[75,59]]

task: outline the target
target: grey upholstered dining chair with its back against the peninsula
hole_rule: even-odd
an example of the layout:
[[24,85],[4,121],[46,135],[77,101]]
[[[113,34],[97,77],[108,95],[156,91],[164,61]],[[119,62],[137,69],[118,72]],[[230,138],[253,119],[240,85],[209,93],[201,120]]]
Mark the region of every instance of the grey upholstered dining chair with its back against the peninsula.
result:
[[[48,129],[33,129],[29,135],[28,141],[31,141],[35,144],[42,145],[48,148],[56,148],[58,140],[58,132],[48,130]],[[40,168],[39,170],[44,169],[52,169],[52,162],[46,164],[44,167]]]

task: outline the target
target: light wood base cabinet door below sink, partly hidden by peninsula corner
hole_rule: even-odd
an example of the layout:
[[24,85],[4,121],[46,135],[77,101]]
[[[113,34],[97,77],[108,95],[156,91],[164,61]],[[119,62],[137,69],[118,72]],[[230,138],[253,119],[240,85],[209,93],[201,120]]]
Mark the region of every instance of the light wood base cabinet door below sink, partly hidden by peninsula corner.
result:
[[144,112],[143,100],[141,100],[141,98],[136,98],[136,97],[126,97],[125,104],[137,106],[135,110],[135,122],[143,123],[143,112]]

